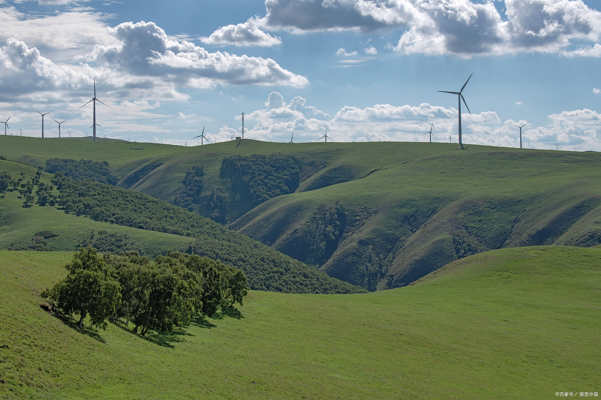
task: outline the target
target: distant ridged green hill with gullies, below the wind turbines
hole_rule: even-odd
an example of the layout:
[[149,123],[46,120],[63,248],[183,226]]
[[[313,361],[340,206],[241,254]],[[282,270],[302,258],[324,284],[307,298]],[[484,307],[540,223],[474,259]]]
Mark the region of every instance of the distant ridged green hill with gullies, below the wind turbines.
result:
[[[133,147],[10,136],[0,144],[5,156],[34,165],[50,157],[106,160],[118,185],[167,201],[189,167],[204,165],[206,188],[233,193],[231,181],[219,178],[224,157],[294,155],[303,162],[295,193],[258,206],[249,196],[232,196],[230,228],[369,290],[407,285],[473,252],[601,243],[596,152],[255,140]],[[207,203],[211,192],[205,193]],[[346,209],[340,237],[326,243],[317,227],[337,200]],[[201,213],[209,216],[207,207]]]

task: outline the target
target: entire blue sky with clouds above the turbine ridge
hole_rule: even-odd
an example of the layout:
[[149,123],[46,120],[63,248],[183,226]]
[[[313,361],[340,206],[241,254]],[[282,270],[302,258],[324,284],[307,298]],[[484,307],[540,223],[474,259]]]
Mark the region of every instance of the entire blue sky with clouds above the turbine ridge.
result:
[[8,133],[188,145],[205,135],[601,151],[599,1],[0,0]]

